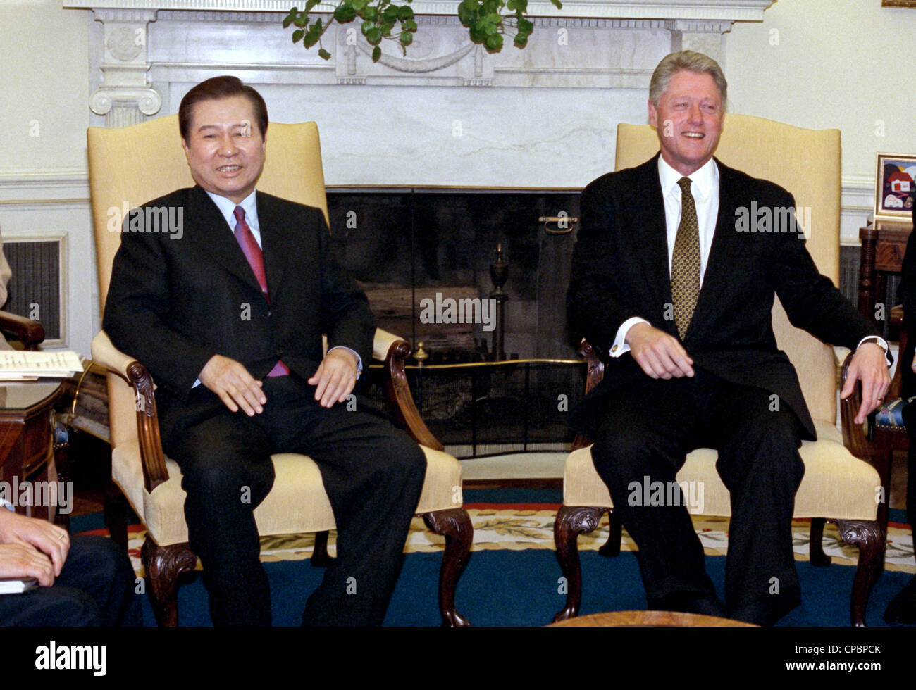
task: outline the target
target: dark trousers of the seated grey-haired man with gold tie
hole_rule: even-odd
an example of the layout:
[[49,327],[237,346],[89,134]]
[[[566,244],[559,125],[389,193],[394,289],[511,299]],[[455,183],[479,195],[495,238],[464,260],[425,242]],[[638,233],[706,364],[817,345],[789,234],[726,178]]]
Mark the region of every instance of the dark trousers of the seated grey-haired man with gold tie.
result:
[[694,612],[714,612],[718,602],[680,487],[666,490],[662,505],[647,505],[643,489],[672,486],[697,447],[718,451],[716,469],[731,494],[723,612],[768,624],[797,605],[791,517],[804,466],[802,426],[791,410],[766,391],[699,370],[669,381],[647,376],[606,398],[594,467],[638,545],[649,608],[691,610],[699,601],[704,608]]

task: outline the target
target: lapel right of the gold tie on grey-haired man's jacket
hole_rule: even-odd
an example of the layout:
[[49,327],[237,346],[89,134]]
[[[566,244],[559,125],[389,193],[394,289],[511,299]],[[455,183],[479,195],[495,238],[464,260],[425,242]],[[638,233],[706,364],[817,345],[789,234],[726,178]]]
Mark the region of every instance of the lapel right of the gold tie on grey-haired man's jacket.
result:
[[735,210],[738,198],[733,183],[732,169],[716,159],[719,167],[719,212],[715,221],[713,243],[709,249],[706,270],[703,273],[703,286],[693,311],[690,327],[686,336],[692,331],[702,332],[704,321],[716,309],[716,302],[728,290],[730,266],[735,264],[740,236],[735,230]]

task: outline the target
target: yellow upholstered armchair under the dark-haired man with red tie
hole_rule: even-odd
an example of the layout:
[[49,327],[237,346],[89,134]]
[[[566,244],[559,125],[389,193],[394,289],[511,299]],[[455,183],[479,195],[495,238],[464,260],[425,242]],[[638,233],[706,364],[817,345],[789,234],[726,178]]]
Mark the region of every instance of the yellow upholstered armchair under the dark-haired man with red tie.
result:
[[[176,115],[123,129],[91,127],[88,143],[99,296],[104,310],[114,253],[120,244],[120,232],[108,228],[110,210],[136,207],[173,189],[191,187],[193,180],[180,146]],[[320,208],[327,218],[314,123],[270,124],[267,163],[258,189]],[[454,604],[455,586],[473,536],[462,507],[461,465],[442,452],[442,445],[420,420],[404,376],[409,353],[405,340],[376,331],[373,356],[385,362],[388,398],[426,454],[426,480],[416,512],[445,537],[439,580],[442,622],[467,625]],[[115,350],[104,331],[93,340],[93,360],[107,370],[113,479],[147,528],[142,549],[150,583],[147,591],[159,624],[177,625],[178,576],[196,565],[197,556],[187,543],[180,469],[163,455],[159,439],[155,384],[143,363]],[[276,480],[255,511],[258,531],[262,535],[318,533],[312,563],[322,565],[328,557],[327,536],[334,528],[334,516],[318,466],[311,458],[292,453],[272,459]]]

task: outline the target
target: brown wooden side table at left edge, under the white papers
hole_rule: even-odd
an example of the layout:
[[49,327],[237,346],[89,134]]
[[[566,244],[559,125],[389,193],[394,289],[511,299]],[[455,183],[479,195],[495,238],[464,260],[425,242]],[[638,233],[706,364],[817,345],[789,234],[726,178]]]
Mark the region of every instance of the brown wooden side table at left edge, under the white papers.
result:
[[[58,477],[54,457],[53,407],[62,393],[60,381],[0,386],[0,481],[5,482],[0,486],[10,494],[16,512],[45,520],[60,516],[54,508],[62,478]],[[31,482],[25,486],[34,488],[39,481],[53,482],[49,491],[32,492],[29,502],[42,505],[20,505],[23,482]],[[51,501],[46,501],[49,498]],[[70,501],[72,507],[72,494]]]

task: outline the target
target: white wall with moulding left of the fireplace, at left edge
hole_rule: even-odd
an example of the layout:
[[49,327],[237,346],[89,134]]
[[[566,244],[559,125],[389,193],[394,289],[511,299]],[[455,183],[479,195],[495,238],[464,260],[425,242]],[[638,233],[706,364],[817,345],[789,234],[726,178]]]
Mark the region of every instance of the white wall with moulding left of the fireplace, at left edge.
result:
[[62,240],[60,347],[86,355],[99,323],[86,181],[91,22],[61,0],[0,4],[0,230],[6,242]]

